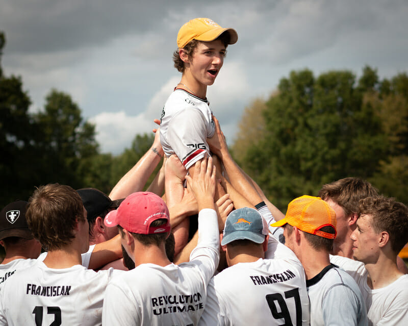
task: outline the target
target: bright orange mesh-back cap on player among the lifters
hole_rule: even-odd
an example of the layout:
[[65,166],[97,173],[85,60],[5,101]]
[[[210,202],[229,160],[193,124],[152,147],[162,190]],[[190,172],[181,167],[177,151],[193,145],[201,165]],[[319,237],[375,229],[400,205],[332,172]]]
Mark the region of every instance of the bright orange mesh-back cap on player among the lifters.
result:
[[[286,223],[300,231],[315,234],[327,239],[335,239],[336,212],[320,197],[301,196],[292,200],[288,205],[285,218],[271,224],[272,227],[282,227]],[[320,231],[323,227],[333,227],[335,234]]]

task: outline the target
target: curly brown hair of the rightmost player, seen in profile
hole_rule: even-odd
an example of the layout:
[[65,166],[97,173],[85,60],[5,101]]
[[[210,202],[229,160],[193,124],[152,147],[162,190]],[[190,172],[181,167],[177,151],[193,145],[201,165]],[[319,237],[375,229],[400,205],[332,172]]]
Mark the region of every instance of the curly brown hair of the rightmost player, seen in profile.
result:
[[390,236],[391,248],[398,254],[408,242],[408,208],[385,196],[372,196],[360,200],[360,214],[372,217],[376,233],[386,231]]

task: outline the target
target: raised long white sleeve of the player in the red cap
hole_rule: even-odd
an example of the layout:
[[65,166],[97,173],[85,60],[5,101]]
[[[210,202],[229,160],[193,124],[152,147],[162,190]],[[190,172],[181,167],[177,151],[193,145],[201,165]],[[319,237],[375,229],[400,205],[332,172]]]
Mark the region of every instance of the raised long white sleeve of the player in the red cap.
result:
[[190,254],[190,262],[199,265],[199,270],[208,284],[220,259],[217,213],[213,209],[202,209],[198,213],[198,243]]

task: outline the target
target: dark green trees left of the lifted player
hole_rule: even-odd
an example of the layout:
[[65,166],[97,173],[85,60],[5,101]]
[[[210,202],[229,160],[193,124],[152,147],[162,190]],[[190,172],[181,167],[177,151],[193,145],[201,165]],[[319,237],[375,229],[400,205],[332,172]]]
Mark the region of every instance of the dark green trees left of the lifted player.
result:
[[[0,31],[0,59],[5,43]],[[84,120],[69,94],[52,89],[44,108],[33,113],[30,105],[21,77],[4,76],[0,65],[1,207],[28,200],[35,187],[47,183],[93,187],[109,194],[154,140],[153,134],[136,135],[119,156],[104,154],[95,140],[94,124]]]

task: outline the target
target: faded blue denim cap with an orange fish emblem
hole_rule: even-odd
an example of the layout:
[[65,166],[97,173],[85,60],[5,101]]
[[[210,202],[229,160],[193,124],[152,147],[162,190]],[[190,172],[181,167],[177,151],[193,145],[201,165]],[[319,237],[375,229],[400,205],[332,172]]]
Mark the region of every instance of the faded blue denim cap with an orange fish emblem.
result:
[[268,233],[268,225],[257,210],[249,207],[239,208],[226,218],[221,245],[243,239],[262,243]]

